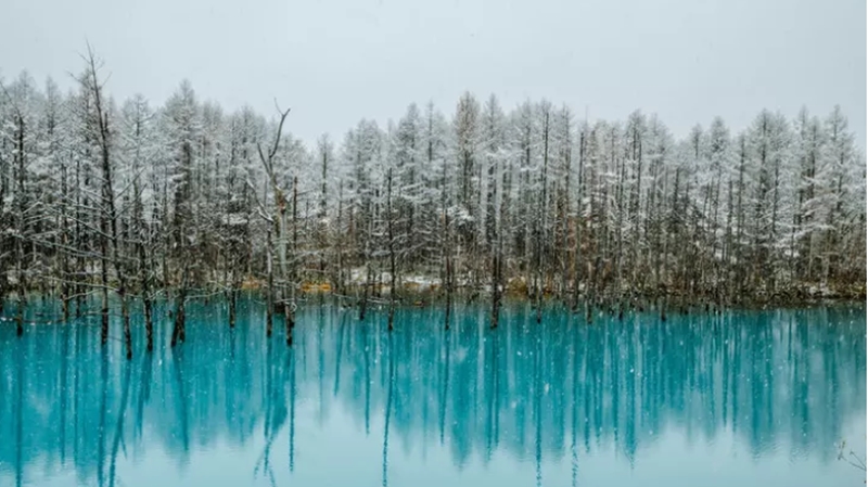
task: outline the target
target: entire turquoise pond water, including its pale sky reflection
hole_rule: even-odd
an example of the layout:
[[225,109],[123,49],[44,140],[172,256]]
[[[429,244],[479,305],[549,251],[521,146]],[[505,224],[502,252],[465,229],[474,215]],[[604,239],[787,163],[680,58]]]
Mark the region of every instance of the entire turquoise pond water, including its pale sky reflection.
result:
[[186,344],[130,362],[98,318],[0,323],[0,485],[863,485],[835,444],[865,453],[864,307],[587,325],[511,306],[494,331],[484,307],[449,331],[408,309],[390,334],[306,306],[292,349],[263,315],[230,330],[192,305]]

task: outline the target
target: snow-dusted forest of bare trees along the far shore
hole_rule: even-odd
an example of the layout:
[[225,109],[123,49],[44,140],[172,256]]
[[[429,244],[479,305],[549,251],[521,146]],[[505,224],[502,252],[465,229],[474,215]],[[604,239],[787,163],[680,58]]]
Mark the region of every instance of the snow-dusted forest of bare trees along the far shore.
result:
[[495,309],[509,292],[570,305],[865,292],[865,155],[840,108],[760,110],[749,127],[714,118],[676,138],[641,111],[589,124],[545,100],[465,93],[307,146],[281,137],[289,95],[273,113],[225,112],[187,81],[161,106],[114,100],[92,56],[77,81],[2,80],[13,312],[28,292],[67,317],[102,296],[105,322],[110,303],[127,320],[143,303],[150,322],[158,295],[183,320],[192,290],[233,307],[257,289],[288,323],[282,304],[310,290],[362,316],[423,286]]

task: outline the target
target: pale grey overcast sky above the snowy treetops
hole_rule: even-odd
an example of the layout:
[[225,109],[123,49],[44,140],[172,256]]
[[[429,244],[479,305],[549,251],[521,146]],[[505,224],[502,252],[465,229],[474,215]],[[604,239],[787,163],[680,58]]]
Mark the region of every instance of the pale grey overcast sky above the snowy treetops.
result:
[[271,115],[306,141],[385,125],[410,102],[451,114],[464,90],[590,118],[656,112],[677,136],[763,108],[866,132],[865,0],[2,0],[0,73],[69,86],[89,39],[118,99],[200,99]]

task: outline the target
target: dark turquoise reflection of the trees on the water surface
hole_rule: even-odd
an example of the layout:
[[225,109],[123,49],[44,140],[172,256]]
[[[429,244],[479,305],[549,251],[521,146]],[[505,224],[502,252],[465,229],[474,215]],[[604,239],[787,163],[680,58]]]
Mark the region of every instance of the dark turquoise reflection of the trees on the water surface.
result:
[[458,465],[495,450],[557,460],[612,446],[631,462],[671,427],[695,441],[730,431],[755,457],[829,460],[845,422],[865,414],[864,309],[591,325],[552,311],[538,325],[518,307],[489,330],[486,311],[469,308],[449,331],[443,310],[407,309],[388,334],[378,315],[359,323],[311,307],[293,349],[251,324],[257,312],[245,305],[230,330],[224,310],[193,307],[183,346],[131,362],[118,342],[100,351],[97,326],[23,338],[0,328],[0,478],[74,465],[110,485],[119,450],[136,459],[158,443],[181,465],[217,439],[265,433],[270,444],[282,431],[303,443],[301,400],[322,421],[340,405],[378,436],[388,412],[393,449],[444,443]]

